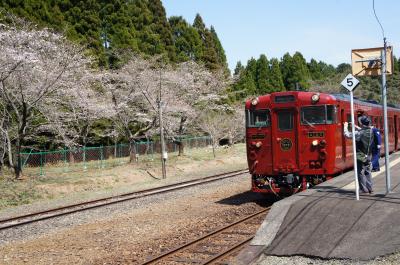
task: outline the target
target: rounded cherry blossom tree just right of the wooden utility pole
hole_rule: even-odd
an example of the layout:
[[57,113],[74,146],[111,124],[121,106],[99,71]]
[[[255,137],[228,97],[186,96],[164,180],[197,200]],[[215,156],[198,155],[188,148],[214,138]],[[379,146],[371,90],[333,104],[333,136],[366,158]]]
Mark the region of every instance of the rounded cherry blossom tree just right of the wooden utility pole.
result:
[[163,94],[165,128],[181,155],[184,145],[180,136],[198,128],[197,117],[202,111],[217,108],[227,80],[222,72],[211,73],[195,62],[184,62],[166,71],[162,80],[164,90],[169,92]]

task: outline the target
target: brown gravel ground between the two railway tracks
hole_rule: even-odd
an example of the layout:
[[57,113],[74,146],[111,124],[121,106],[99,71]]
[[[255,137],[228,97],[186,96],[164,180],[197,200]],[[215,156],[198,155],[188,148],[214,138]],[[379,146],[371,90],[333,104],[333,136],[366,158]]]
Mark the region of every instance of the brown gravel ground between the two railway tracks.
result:
[[265,206],[247,174],[0,234],[0,264],[136,264]]

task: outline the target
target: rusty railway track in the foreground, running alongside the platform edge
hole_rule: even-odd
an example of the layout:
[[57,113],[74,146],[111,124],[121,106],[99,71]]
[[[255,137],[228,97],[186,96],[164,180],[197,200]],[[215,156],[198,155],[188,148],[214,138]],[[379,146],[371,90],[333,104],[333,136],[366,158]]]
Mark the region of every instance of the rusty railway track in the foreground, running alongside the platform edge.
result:
[[244,217],[232,224],[212,231],[158,256],[149,258],[148,264],[229,264],[254,237],[270,207]]

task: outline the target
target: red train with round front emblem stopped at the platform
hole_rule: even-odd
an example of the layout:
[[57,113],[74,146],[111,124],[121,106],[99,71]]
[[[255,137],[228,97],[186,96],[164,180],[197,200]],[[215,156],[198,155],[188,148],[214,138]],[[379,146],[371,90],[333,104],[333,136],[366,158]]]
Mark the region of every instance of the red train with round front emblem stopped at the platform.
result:
[[[383,129],[381,105],[355,99],[354,110],[355,121],[365,114]],[[351,121],[350,97],[343,94],[288,91],[248,100],[246,145],[252,190],[291,194],[352,168],[351,139],[343,135],[345,121]],[[388,107],[388,127],[392,152],[400,147],[400,109]]]

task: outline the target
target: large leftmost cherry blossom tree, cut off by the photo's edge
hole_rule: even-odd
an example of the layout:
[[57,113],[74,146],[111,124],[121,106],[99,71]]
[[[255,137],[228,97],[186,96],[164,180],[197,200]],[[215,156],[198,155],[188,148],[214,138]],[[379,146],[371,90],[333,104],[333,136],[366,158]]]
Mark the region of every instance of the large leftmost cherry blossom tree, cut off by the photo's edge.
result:
[[0,101],[9,120],[2,131],[12,149],[8,162],[19,178],[25,139],[46,123],[40,117],[54,99],[82,88],[90,59],[63,36],[21,21],[0,24],[0,47]]

